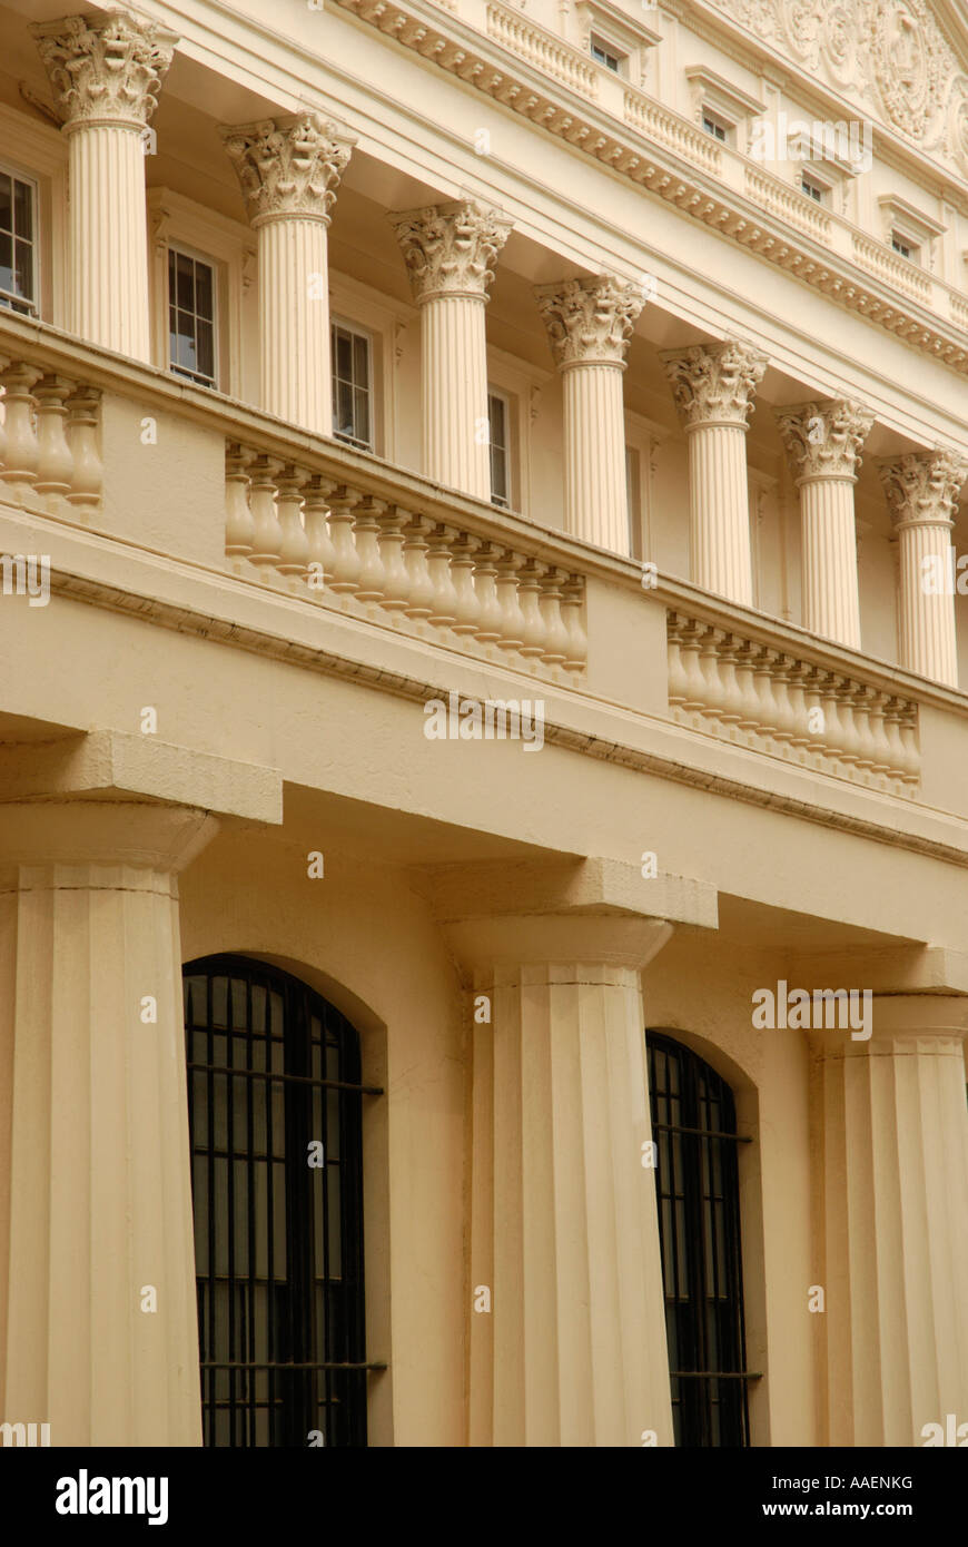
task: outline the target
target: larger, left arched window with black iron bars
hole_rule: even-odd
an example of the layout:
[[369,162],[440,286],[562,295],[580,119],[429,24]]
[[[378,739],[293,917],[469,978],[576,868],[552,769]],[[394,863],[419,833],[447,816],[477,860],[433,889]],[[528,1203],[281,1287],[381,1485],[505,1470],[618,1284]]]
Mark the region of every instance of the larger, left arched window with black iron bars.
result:
[[243,956],[184,1010],[204,1443],[365,1445],[359,1036]]

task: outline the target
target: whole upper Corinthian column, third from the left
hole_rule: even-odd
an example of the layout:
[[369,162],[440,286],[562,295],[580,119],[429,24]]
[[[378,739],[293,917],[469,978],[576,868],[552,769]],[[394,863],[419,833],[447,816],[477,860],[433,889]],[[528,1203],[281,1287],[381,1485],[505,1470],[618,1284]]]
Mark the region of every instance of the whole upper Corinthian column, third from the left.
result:
[[470,200],[390,220],[421,308],[424,472],[490,500],[484,308],[510,221]]

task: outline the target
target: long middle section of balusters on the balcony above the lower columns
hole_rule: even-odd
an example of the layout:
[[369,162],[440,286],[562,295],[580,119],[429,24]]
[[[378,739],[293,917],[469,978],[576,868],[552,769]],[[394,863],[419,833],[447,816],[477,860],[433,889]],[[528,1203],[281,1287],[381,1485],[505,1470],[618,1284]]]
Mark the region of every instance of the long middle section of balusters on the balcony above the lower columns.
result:
[[226,555],[235,574],[527,670],[583,673],[585,577],[374,497],[366,480],[226,450]]

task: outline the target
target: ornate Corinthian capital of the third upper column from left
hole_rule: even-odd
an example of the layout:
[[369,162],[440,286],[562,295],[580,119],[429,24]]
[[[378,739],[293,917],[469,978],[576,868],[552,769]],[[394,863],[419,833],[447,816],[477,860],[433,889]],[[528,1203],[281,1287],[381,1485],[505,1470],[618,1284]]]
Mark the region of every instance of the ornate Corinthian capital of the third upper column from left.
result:
[[431,204],[390,217],[404,249],[414,300],[476,295],[487,300],[495,260],[510,220],[473,200]]

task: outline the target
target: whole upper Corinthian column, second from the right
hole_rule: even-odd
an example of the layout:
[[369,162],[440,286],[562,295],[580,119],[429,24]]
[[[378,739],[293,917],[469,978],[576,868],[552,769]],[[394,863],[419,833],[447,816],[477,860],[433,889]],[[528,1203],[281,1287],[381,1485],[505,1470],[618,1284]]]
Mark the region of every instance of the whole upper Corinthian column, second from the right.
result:
[[849,398],[776,410],[799,489],[803,627],[860,650],[854,484],[874,415]]

